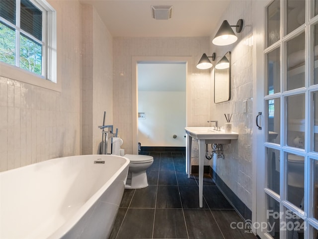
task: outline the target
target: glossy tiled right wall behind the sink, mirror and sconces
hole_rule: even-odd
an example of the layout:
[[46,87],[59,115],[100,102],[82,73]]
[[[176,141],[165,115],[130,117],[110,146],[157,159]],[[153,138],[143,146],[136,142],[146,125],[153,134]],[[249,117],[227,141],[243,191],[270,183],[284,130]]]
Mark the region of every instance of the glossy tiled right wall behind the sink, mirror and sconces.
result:
[[[210,163],[222,180],[233,190],[240,200],[252,208],[252,1],[232,1],[224,17],[231,25],[235,25],[239,18],[244,21],[241,33],[236,33],[238,41],[229,46],[217,47],[211,45],[212,51],[218,56],[223,56],[227,51],[232,52],[232,87],[231,100],[224,103],[212,104],[211,114],[213,119],[219,120],[220,125],[226,122],[224,114],[233,114],[233,131],[239,133],[239,139],[224,145],[225,159],[216,159]],[[235,31],[235,28],[233,28]],[[217,31],[217,29],[216,29]],[[215,35],[216,32],[211,34]],[[219,60],[220,58],[218,58]],[[214,80],[214,76],[213,80]],[[214,89],[213,89],[214,91]],[[247,112],[243,113],[243,101],[247,101]]]

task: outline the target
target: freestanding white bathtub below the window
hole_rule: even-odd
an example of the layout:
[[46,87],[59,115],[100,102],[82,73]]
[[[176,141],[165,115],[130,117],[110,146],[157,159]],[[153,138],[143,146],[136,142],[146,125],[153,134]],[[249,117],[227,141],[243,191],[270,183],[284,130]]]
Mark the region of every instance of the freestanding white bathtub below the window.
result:
[[0,238],[108,238],[128,167],[121,156],[82,155],[0,173]]

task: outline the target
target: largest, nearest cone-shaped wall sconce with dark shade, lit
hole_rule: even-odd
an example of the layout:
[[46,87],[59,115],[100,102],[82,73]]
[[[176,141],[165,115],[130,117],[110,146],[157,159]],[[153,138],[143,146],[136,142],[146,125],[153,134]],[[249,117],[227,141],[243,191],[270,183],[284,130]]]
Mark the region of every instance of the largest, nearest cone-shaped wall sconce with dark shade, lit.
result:
[[[234,26],[236,27],[237,33],[241,32],[243,28],[243,19],[239,19],[237,24]],[[224,20],[217,34],[213,38],[212,43],[217,46],[226,46],[236,42],[238,37],[231,27],[233,26],[231,26],[227,20]]]

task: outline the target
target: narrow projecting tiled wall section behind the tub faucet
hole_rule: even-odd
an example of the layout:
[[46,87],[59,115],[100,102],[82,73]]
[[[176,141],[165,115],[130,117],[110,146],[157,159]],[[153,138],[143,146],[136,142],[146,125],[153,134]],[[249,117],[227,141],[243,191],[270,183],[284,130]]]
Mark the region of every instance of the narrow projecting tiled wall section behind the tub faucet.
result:
[[82,14],[82,154],[96,154],[104,112],[105,123],[113,122],[112,36],[91,5],[83,4]]

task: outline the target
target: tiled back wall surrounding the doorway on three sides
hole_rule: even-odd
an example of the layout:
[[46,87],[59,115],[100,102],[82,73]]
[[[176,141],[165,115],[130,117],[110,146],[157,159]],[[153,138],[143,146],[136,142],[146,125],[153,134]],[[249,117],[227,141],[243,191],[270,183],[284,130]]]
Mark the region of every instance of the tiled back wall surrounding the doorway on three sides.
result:
[[113,39],[113,120],[132,153],[132,57],[190,56],[187,74],[187,126],[206,126],[210,118],[211,79],[209,70],[198,70],[203,53],[209,53],[208,37],[115,37]]

